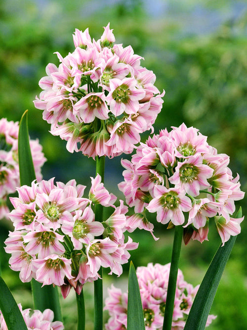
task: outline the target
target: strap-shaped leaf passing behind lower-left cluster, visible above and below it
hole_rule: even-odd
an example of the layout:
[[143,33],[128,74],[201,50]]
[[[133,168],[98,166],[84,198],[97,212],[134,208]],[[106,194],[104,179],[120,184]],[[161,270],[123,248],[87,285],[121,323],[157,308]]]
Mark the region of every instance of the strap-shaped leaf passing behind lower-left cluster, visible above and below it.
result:
[[[18,160],[21,186],[31,186],[36,179],[28,134],[28,110],[21,118],[18,137]],[[41,287],[41,283],[32,280],[34,308],[43,312],[46,308],[54,312],[54,321],[62,321],[58,289],[52,285]]]

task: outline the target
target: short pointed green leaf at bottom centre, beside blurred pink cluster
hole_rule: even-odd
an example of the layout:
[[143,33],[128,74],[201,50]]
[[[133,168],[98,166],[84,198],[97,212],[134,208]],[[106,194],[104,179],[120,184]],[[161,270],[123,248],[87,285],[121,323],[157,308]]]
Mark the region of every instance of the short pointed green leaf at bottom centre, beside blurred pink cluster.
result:
[[132,261],[128,275],[127,330],[145,330],[141,295]]

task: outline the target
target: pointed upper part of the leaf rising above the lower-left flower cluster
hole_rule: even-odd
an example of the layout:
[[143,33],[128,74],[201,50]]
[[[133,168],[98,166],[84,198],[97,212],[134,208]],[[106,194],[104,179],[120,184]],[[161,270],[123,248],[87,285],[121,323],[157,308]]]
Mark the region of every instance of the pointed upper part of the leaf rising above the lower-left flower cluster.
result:
[[31,186],[36,179],[28,135],[28,110],[21,118],[18,137],[18,160],[21,186]]

